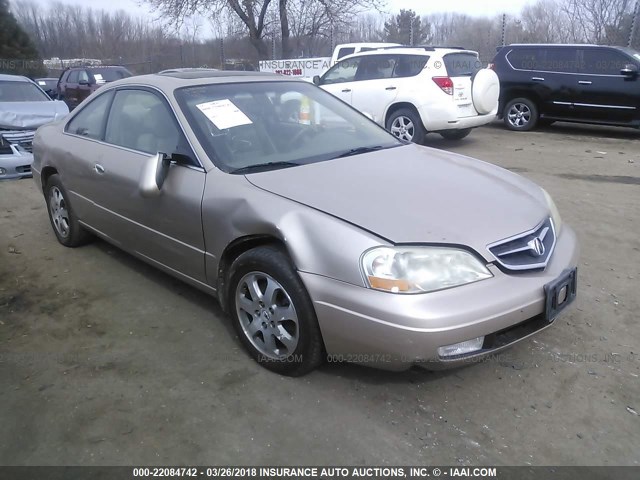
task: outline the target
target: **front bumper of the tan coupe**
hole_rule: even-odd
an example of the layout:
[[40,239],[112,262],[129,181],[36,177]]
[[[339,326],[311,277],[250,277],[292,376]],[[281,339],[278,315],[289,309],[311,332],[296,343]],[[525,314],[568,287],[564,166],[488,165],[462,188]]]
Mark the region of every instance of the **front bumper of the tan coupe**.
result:
[[[477,283],[419,295],[380,292],[301,272],[313,301],[329,358],[406,370],[455,367],[510,347],[548,327],[544,285],[574,268],[575,233],[564,226],[544,271],[505,274]],[[455,360],[438,348],[485,336],[490,348]]]

